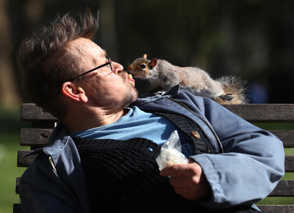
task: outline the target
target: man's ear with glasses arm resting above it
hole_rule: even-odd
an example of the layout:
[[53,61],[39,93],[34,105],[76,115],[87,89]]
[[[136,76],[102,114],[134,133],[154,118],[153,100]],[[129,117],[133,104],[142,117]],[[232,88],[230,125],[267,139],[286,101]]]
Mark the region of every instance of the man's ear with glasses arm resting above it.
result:
[[63,85],[61,86],[61,92],[63,93],[63,95],[73,101],[84,103],[88,101],[88,97],[86,96],[84,89],[72,82],[63,83]]

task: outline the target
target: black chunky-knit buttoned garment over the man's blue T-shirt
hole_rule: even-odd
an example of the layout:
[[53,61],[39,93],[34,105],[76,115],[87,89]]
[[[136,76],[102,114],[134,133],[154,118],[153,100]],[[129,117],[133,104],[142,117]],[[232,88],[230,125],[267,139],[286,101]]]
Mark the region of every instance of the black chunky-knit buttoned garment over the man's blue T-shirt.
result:
[[[181,116],[165,116],[172,122],[177,121],[173,123],[186,133],[185,144],[195,154],[212,152],[197,124],[186,118],[183,120]],[[195,128],[200,140],[189,135]],[[186,200],[176,194],[169,178],[159,175],[155,158],[160,153],[160,146],[148,139],[76,137],[73,140],[81,158],[93,212],[101,212],[104,208],[110,212],[255,212],[244,206],[226,210],[207,209],[197,201]]]

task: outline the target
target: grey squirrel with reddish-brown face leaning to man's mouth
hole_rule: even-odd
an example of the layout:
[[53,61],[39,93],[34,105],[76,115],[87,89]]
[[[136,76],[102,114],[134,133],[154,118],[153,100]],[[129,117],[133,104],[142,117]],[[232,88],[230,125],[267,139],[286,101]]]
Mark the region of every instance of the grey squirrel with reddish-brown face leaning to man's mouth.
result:
[[208,97],[219,104],[246,104],[246,81],[236,76],[223,76],[213,80],[207,72],[198,67],[178,67],[166,60],[148,60],[147,55],[138,58],[128,66],[135,78],[147,79],[154,87],[149,92],[155,95],[166,93],[180,84],[194,95]]

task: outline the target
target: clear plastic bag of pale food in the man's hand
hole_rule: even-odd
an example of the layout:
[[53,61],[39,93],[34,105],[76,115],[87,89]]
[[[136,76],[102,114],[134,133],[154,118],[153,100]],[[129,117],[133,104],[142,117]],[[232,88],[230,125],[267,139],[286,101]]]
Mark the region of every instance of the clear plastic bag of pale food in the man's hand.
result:
[[173,131],[166,143],[161,146],[161,153],[156,158],[159,170],[174,164],[188,163],[186,156],[181,151],[182,147],[178,132]]

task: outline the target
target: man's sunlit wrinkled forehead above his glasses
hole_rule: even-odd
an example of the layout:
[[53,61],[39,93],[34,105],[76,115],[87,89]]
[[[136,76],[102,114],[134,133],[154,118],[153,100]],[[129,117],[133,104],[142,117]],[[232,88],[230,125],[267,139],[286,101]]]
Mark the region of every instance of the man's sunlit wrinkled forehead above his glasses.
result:
[[95,58],[105,58],[107,54],[105,50],[103,50],[93,41],[85,38],[78,38],[70,41],[67,44],[67,48],[69,51],[82,55],[82,57],[92,55]]

